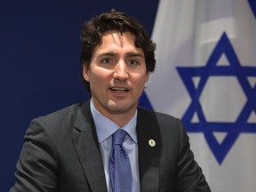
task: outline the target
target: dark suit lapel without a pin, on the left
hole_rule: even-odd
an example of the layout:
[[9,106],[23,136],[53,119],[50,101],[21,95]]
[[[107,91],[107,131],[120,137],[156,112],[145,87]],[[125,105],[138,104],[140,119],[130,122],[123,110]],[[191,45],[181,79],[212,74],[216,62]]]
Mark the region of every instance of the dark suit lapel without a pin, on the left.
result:
[[77,113],[72,140],[92,191],[107,192],[100,147],[89,102],[86,102]]

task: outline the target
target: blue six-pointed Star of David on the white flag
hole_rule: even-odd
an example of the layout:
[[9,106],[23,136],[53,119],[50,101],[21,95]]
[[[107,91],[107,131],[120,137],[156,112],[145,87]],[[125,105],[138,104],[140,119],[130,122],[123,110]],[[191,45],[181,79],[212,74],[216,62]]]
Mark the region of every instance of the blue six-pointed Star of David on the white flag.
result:
[[[229,62],[228,66],[217,65],[222,54],[226,55]],[[248,122],[249,117],[252,114],[255,115],[256,112],[256,84],[250,84],[249,81],[250,77],[256,77],[256,67],[241,66],[236,52],[224,32],[204,67],[179,67],[177,70],[192,100],[182,117],[186,130],[187,132],[204,132],[205,140],[211,148],[213,155],[221,164],[241,132],[256,132],[256,123]],[[204,91],[207,80],[211,76],[235,76],[237,82],[241,85],[246,101],[235,122],[223,123],[206,120],[199,98]],[[200,77],[197,86],[193,83],[193,77]],[[198,116],[198,122],[193,123],[192,118],[195,113]],[[227,136],[219,143],[213,132],[227,132]]]

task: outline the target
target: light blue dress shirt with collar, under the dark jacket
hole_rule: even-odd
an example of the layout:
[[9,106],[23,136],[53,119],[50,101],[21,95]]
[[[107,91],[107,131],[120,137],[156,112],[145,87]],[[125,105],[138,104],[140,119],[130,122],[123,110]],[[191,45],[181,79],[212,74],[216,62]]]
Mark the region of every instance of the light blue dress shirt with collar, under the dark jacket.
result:
[[102,162],[104,166],[104,172],[108,187],[108,192],[111,192],[111,184],[109,179],[109,156],[112,148],[112,134],[118,129],[123,129],[127,132],[127,135],[124,139],[124,148],[126,149],[128,156],[130,158],[131,167],[132,167],[132,191],[140,191],[140,175],[139,175],[139,156],[138,156],[138,141],[137,141],[137,110],[135,115],[132,117],[132,120],[129,121],[124,126],[119,127],[117,124],[112,122],[106,116],[102,116],[100,112],[94,107],[91,100],[91,111],[94,124],[96,127],[96,132],[98,136],[98,141],[100,143],[100,152],[102,157]]

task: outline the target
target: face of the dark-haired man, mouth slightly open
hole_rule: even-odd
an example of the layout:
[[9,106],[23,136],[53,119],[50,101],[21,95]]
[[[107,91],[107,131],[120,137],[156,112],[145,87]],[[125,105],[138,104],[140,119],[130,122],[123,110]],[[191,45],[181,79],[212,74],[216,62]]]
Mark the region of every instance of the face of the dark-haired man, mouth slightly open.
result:
[[108,31],[101,40],[92,52],[90,67],[84,65],[92,102],[110,119],[121,114],[133,116],[149,77],[144,52],[135,46],[130,32]]

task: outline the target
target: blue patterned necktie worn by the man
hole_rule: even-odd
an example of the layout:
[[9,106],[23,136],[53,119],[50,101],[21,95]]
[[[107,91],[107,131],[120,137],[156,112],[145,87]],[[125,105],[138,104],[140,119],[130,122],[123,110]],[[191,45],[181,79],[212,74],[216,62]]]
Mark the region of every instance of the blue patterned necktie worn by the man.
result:
[[109,174],[113,192],[132,192],[132,170],[129,156],[123,146],[126,132],[117,130],[112,135]]

